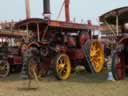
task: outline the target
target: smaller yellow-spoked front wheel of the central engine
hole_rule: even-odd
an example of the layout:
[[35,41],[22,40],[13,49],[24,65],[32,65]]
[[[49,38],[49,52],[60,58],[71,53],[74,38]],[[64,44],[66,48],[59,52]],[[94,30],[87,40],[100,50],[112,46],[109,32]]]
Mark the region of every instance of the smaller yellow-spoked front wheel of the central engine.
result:
[[61,54],[57,58],[56,71],[61,80],[66,80],[69,77],[71,72],[71,65],[69,57],[67,55]]

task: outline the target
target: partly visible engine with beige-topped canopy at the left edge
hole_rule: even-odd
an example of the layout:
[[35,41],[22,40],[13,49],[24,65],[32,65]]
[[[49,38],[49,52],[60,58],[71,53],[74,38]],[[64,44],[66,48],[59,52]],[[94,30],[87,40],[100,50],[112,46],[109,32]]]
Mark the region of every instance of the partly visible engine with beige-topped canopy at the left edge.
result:
[[26,33],[14,30],[13,22],[0,23],[0,78],[10,72],[20,72],[22,68],[21,40]]

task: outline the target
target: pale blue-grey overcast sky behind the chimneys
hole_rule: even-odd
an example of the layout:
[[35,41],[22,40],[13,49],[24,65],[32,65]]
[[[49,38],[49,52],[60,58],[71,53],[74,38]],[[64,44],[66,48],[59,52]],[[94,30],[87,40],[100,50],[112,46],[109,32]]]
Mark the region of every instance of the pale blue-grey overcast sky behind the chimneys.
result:
[[[30,0],[31,16],[42,18],[42,1]],[[56,19],[63,0],[51,0],[52,19]],[[90,19],[97,23],[98,16],[111,9],[128,6],[128,0],[70,0],[71,20],[76,18],[77,22]],[[64,18],[62,12],[60,19]],[[25,0],[1,0],[0,21],[25,19]]]

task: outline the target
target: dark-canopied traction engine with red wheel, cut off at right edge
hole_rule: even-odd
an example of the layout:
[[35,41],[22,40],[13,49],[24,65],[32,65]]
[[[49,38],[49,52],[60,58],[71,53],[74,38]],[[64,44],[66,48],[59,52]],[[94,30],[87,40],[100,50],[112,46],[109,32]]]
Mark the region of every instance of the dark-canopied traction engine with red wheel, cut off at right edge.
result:
[[113,76],[116,80],[124,79],[128,73],[128,7],[109,11],[100,16],[100,21],[109,29],[109,38],[115,41],[112,54]]

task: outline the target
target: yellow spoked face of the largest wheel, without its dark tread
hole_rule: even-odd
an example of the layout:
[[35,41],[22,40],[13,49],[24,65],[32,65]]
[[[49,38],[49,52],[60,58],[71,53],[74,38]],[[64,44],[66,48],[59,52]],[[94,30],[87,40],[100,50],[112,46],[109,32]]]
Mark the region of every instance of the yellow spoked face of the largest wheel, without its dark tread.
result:
[[100,72],[104,64],[104,52],[102,45],[98,41],[91,44],[89,56],[95,72]]

